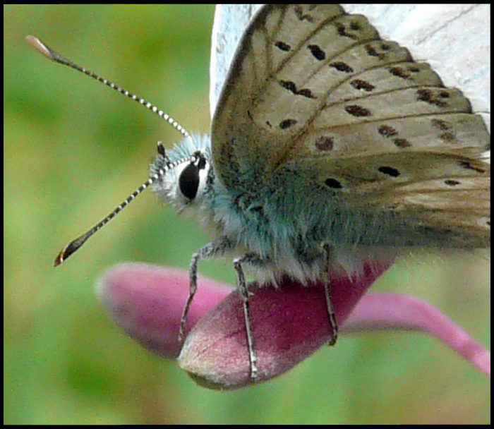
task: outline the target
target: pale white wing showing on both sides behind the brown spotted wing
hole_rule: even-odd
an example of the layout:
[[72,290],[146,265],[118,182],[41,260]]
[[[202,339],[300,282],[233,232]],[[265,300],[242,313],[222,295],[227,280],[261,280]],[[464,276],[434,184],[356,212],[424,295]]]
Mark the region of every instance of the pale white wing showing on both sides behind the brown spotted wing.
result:
[[[212,30],[210,112],[227,75],[236,45],[262,5],[217,5]],[[490,132],[490,4],[342,4],[363,13],[384,38],[426,60],[447,86],[459,87]]]

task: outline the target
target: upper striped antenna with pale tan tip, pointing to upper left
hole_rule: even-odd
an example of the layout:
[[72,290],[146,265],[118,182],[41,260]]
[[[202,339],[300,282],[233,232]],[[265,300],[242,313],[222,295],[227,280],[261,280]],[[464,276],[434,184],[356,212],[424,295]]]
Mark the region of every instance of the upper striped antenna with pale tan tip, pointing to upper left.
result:
[[154,104],[151,104],[150,102],[147,102],[145,99],[140,98],[137,95],[128,92],[127,90],[124,90],[122,87],[119,87],[119,85],[116,85],[113,82],[110,82],[105,78],[102,78],[101,76],[97,75],[96,73],[93,73],[87,68],[79,66],[70,59],[66,59],[64,56],[61,56],[60,54],[55,52],[52,48],[47,46],[47,44],[44,44],[40,39],[38,39],[35,36],[26,36],[25,40],[27,40],[28,43],[37,50],[37,52],[40,52],[40,54],[42,54],[42,56],[46,57],[47,59],[51,59],[52,61],[55,61],[56,63],[59,64],[64,64],[64,66],[69,66],[74,70],[80,71],[85,75],[88,75],[90,78],[96,79],[104,83],[104,85],[111,87],[112,90],[116,90],[117,92],[120,92],[126,97],[133,99],[135,102],[142,104],[146,109],[149,109],[150,111],[154,111],[155,114],[157,114],[161,119],[164,119],[164,121],[167,121],[171,126],[173,126],[176,129],[176,131],[179,131],[183,135],[183,137],[191,138],[191,135],[189,135],[189,133],[185,130],[185,128],[183,128],[183,126],[181,126],[171,116],[164,113],[164,111],[159,110]]

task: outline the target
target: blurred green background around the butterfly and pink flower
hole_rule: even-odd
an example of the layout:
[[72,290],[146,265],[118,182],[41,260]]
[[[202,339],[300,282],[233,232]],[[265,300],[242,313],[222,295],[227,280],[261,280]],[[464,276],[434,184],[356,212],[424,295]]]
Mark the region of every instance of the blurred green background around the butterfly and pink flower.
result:
[[[4,423],[489,423],[490,382],[437,340],[344,337],[277,380],[212,392],[140,348],[94,293],[109,266],[188,267],[207,242],[151,192],[61,267],[60,248],[147,178],[179,135],[24,37],[207,132],[212,6],[4,6]],[[374,290],[426,298],[490,346],[490,258],[403,260]],[[233,284],[229,265],[203,275]]]

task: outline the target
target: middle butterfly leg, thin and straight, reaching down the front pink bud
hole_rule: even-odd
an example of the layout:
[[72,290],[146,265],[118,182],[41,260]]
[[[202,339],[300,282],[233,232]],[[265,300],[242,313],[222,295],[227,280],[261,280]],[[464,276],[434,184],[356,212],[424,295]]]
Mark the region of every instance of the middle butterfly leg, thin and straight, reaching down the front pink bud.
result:
[[248,358],[251,363],[251,380],[255,380],[258,377],[258,355],[255,351],[254,334],[252,329],[252,319],[251,319],[251,308],[249,306],[248,300],[248,289],[246,283],[245,274],[243,274],[242,264],[248,263],[251,265],[262,265],[263,260],[261,260],[258,255],[254,253],[246,253],[246,255],[240,258],[234,259],[234,269],[237,278],[237,287],[239,288],[240,296],[242,298],[243,306],[243,316],[246,322],[246,332],[247,332],[247,345],[248,345]]

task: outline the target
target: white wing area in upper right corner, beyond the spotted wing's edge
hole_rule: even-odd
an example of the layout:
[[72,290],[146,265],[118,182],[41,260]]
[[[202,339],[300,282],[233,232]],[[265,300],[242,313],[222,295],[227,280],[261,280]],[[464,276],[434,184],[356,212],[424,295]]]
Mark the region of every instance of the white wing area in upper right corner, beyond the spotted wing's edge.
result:
[[490,4],[342,4],[469,97],[490,132]]

